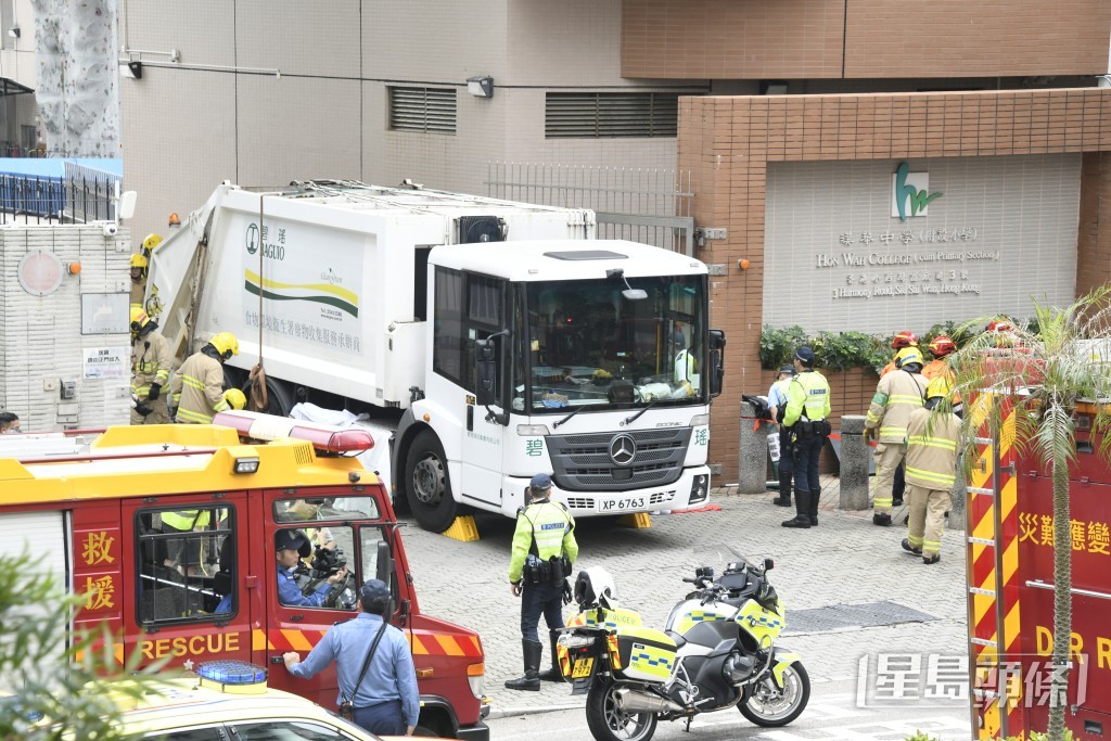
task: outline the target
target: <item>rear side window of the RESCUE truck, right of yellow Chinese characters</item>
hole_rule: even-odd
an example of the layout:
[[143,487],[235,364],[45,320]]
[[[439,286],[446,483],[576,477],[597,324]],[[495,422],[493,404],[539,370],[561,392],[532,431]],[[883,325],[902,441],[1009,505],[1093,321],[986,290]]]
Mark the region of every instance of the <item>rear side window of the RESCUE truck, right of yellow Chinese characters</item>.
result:
[[136,514],[139,624],[228,620],[238,610],[234,508]]

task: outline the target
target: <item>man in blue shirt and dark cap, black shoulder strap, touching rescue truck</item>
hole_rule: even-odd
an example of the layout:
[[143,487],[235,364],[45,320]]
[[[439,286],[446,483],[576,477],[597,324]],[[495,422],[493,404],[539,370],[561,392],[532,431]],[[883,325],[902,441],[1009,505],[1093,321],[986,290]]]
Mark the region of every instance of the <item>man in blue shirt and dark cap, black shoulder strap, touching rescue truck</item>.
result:
[[359,590],[359,604],[362,612],[354,620],[332,625],[303,663],[297,651],[286,653],[286,669],[294,677],[309,679],[334,661],[340,695],[351,699],[357,724],[371,733],[412,735],[420,715],[420,692],[404,633],[393,625],[386,627],[367,674],[359,682],[367,653],[390,605],[389,587],[378,579],[369,580]]

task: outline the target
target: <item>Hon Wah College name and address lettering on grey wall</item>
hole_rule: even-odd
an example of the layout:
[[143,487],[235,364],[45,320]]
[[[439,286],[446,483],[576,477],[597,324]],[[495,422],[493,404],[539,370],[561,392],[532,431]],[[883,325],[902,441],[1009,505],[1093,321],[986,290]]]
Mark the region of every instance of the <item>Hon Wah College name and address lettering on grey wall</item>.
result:
[[[834,299],[979,294],[982,286],[970,268],[1002,257],[1000,250],[973,249],[979,236],[973,227],[887,230],[880,234],[842,232],[837,241],[848,250],[820,253],[814,259],[819,270],[847,270],[844,287],[832,290]],[[859,249],[857,246],[877,251],[851,251]],[[883,251],[885,248],[899,251]],[[901,248],[919,251],[904,252]]]

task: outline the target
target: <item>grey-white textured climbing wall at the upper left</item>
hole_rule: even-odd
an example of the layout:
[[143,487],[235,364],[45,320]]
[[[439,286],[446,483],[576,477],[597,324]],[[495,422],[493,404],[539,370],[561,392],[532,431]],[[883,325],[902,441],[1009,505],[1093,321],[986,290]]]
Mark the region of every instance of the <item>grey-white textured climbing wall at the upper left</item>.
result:
[[47,151],[119,157],[117,0],[33,0],[38,90]]

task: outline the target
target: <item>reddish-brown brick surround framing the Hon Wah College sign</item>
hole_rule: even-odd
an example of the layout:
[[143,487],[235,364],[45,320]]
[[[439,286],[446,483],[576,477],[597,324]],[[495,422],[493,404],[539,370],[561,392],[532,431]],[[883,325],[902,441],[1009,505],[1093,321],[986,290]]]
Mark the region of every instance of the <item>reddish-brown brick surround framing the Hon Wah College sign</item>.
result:
[[[759,357],[769,161],[1065,151],[1111,151],[1111,90],[682,98],[679,166],[691,170],[697,183],[694,220],[728,230],[728,239],[709,241],[698,252],[704,262],[725,268],[724,276],[711,279],[710,292],[712,322],[729,339],[725,391],[714,402],[710,449],[711,462],[723,467],[721,482],[737,480],[741,394],[764,393],[771,379]],[[1085,154],[1082,174],[1078,269],[1089,281],[1105,280],[1111,270],[1111,228],[1100,219],[1111,206],[1107,161]],[[738,266],[741,258],[749,260],[747,270]],[[852,372],[834,379],[840,384],[834,400],[841,394],[840,409],[852,405],[862,413],[875,380],[857,373],[855,380]]]

